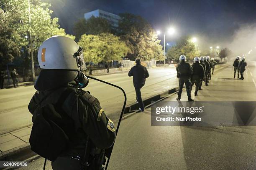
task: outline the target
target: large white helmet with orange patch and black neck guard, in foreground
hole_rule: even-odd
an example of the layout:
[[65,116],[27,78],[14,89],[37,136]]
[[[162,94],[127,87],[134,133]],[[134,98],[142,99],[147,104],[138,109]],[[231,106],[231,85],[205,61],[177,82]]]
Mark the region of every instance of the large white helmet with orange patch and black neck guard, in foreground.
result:
[[36,90],[49,90],[76,80],[80,88],[88,84],[82,47],[69,37],[53,36],[38,49],[38,63],[42,69],[35,83]]

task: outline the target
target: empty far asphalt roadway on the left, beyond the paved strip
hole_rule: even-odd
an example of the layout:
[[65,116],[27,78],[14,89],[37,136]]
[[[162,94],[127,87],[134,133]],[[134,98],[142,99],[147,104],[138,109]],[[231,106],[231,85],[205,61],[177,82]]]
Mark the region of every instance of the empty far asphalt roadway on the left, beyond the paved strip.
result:
[[[148,69],[148,72],[150,76],[143,88],[167,79],[173,79],[176,82],[175,68]],[[127,72],[101,75],[96,78],[122,87],[127,94],[134,92],[132,77],[128,77]],[[100,104],[106,112],[111,113],[118,110],[119,113],[121,110],[120,101],[123,101],[123,95],[119,89],[95,80],[90,80],[89,85],[84,89],[90,91],[100,100]],[[35,91],[33,86],[0,90],[0,134],[32,123],[32,115],[28,112],[27,107]],[[135,102],[135,98],[134,95],[128,95],[128,100],[134,99]]]

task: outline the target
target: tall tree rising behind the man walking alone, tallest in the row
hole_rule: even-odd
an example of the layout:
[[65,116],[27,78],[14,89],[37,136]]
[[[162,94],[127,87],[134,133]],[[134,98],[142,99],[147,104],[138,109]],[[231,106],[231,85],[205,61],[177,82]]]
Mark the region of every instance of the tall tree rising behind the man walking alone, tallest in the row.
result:
[[141,16],[129,13],[120,14],[118,35],[130,48],[128,57],[135,60],[159,60],[162,57],[162,46],[151,25]]

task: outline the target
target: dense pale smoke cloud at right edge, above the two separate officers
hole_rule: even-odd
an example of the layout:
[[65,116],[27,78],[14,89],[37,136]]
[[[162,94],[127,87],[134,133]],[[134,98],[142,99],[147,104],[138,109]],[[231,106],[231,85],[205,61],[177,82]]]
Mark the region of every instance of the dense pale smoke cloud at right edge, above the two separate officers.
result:
[[244,55],[246,60],[256,60],[256,24],[242,25],[233,34],[233,40],[226,44],[234,56]]

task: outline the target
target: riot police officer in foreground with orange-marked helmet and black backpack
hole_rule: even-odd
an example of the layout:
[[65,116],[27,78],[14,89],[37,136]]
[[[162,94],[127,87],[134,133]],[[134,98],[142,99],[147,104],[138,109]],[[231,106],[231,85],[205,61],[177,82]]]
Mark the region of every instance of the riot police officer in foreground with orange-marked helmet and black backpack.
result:
[[[28,105],[31,150],[51,160],[53,170],[102,169],[115,127],[99,100],[82,90],[89,82],[82,47],[69,37],[50,37],[39,47],[38,63],[38,91]],[[42,134],[51,128],[54,135]]]

